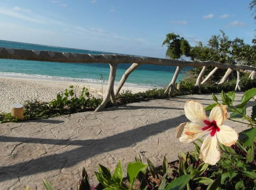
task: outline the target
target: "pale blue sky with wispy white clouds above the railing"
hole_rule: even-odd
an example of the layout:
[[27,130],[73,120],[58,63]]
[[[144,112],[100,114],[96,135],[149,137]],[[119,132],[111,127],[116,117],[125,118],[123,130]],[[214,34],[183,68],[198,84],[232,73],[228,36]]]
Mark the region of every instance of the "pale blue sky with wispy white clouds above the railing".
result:
[[251,0],[0,0],[0,40],[165,57],[174,32],[207,44],[222,29],[251,44]]

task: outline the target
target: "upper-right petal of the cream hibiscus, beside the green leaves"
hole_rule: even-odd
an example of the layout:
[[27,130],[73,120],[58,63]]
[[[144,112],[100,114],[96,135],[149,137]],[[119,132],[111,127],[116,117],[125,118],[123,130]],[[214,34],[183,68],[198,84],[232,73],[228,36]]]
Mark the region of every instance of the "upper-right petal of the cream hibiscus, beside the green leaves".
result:
[[222,123],[227,119],[227,107],[225,105],[215,106],[210,113],[210,122],[216,121],[217,125],[222,125]]

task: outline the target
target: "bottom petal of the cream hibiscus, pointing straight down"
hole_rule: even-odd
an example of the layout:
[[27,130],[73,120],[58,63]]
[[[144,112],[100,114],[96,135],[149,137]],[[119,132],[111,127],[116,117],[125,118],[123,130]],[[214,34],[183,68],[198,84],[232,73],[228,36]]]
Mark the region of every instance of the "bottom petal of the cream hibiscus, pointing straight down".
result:
[[200,156],[204,162],[211,165],[215,165],[219,161],[221,157],[221,151],[218,146],[218,140],[216,135],[214,135],[213,137],[208,135],[205,138],[201,146]]

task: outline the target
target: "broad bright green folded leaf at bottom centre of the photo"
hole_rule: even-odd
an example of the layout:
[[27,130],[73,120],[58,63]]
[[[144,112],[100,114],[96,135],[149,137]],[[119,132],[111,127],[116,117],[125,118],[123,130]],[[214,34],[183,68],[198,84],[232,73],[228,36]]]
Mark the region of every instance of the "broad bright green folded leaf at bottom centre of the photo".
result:
[[141,162],[130,162],[127,165],[127,178],[130,182],[130,189],[132,189],[132,186],[135,182],[135,179],[140,171],[143,173],[146,171],[147,165],[144,165]]

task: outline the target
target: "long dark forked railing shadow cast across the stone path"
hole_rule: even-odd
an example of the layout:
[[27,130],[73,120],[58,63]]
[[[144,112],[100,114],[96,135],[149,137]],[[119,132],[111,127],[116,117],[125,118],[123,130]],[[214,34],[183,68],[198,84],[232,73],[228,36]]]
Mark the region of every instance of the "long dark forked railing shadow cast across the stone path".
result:
[[158,123],[144,125],[135,129],[131,129],[122,133],[118,133],[101,139],[86,140],[63,140],[63,139],[44,139],[30,137],[6,137],[1,136],[2,142],[25,142],[40,143],[53,145],[79,146],[60,154],[52,154],[43,156],[29,161],[20,162],[11,166],[0,167],[0,182],[27,175],[33,175],[50,170],[62,169],[63,167],[71,167],[84,159],[91,158],[97,154],[102,154],[112,150],[122,149],[134,146],[137,142],[150,138],[152,135],[165,132],[172,127],[176,127],[181,122],[187,121],[185,115],[171,118]]

